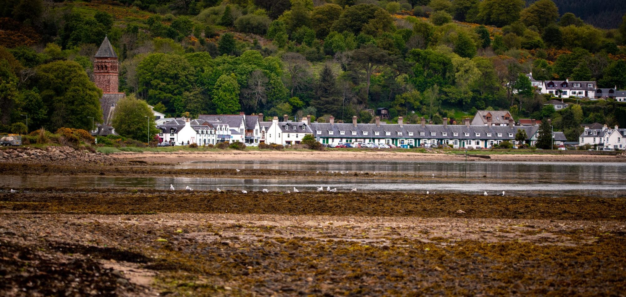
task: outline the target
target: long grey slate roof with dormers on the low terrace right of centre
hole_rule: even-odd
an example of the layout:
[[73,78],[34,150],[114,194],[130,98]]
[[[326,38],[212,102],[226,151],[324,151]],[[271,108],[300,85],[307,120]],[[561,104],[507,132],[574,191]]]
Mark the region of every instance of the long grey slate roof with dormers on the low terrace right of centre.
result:
[[[330,123],[311,123],[310,128],[316,137],[324,138],[404,138],[404,139],[494,139],[494,140],[511,140],[515,139],[515,133],[518,129],[526,131],[528,139],[530,139],[539,126],[467,126],[465,125],[424,125],[421,124],[357,124],[355,127],[351,123],[346,124],[330,124]],[[317,134],[317,131],[321,131],[321,134]],[[329,131],[333,131],[333,134],[329,134]],[[344,131],[345,134],[341,135],[340,131]],[[356,135],[352,135],[352,131],[356,131]],[[367,134],[364,134],[367,132]],[[379,135],[376,135],[379,132]],[[389,132],[389,135],[386,133]],[[409,135],[409,132],[413,132],[413,136]],[[424,135],[421,135],[421,133]],[[398,133],[402,133],[398,135]],[[431,134],[431,133],[434,133]],[[447,133],[446,136],[443,133]],[[458,133],[454,136],[454,133]],[[469,133],[469,136],[465,136],[465,133]],[[480,136],[476,136],[479,133]],[[498,133],[501,136],[498,136]],[[512,133],[510,137],[508,134]],[[488,136],[491,134],[491,136]]]

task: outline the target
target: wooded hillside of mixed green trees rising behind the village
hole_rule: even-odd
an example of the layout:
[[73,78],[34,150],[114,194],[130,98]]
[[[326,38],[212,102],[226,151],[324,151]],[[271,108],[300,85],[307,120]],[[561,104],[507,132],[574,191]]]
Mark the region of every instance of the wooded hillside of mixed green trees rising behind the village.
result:
[[[555,112],[535,79],[626,87],[626,21],[598,29],[550,0],[1,0],[0,131],[91,128],[102,118],[93,55],[108,36],[120,91],[170,116],[307,114],[459,121],[476,109],[626,126],[626,107]],[[520,89],[520,92],[513,92]],[[574,100],[575,101],[575,100]]]

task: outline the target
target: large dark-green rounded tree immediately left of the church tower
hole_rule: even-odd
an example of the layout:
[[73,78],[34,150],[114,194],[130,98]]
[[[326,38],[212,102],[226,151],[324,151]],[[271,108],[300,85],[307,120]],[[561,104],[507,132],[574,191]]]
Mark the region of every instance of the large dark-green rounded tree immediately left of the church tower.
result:
[[37,68],[41,99],[48,108],[48,130],[61,127],[91,129],[91,116],[102,119],[102,91],[93,84],[85,69],[74,61],[55,61]]

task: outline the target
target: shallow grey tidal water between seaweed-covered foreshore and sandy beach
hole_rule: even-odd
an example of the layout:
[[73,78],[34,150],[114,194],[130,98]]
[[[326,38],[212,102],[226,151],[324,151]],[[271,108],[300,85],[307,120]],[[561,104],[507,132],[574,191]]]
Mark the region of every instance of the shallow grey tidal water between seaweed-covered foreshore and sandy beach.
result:
[[[163,167],[163,166],[159,166]],[[337,191],[440,191],[496,194],[506,191],[521,196],[623,196],[626,193],[626,163],[546,162],[412,162],[412,161],[195,161],[166,166],[175,169],[279,169],[285,171],[412,174],[417,179],[374,179],[359,175],[349,178],[294,176],[271,178],[204,178],[201,176],[0,176],[6,187],[64,188],[151,188],[169,190],[190,186],[198,190],[315,191],[317,187]],[[374,175],[373,173],[377,173]],[[434,176],[433,176],[434,174]]]

